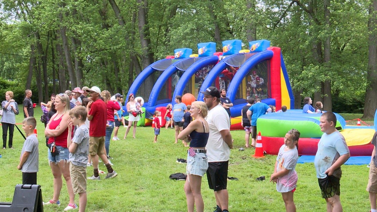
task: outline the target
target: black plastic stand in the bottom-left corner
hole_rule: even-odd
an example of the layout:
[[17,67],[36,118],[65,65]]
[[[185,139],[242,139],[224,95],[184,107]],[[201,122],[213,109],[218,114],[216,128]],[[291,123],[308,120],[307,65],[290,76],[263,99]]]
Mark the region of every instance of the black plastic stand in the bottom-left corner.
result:
[[0,212],[43,212],[40,185],[17,184],[11,203],[0,203]]

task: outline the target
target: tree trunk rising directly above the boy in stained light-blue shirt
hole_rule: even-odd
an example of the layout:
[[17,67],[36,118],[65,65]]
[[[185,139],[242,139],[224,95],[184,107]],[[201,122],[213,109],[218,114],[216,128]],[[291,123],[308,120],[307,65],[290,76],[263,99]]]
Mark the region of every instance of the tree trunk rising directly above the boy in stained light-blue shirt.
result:
[[[325,16],[325,29],[326,29],[326,40],[323,46],[323,62],[325,63],[325,67],[330,70],[330,10],[328,9],[328,6],[330,5],[330,0],[324,1],[324,16]],[[326,80],[323,83],[323,109],[325,111],[332,111],[332,96],[331,96],[331,81]]]

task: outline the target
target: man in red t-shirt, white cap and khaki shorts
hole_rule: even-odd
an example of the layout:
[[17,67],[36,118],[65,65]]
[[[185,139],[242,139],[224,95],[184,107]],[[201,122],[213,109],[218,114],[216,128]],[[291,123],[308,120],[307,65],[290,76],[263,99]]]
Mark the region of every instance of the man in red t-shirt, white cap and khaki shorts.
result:
[[86,106],[88,112],[87,119],[90,121],[89,128],[89,154],[92,156],[93,176],[88,177],[90,180],[100,180],[98,175],[98,157],[101,157],[107,168],[107,178],[113,178],[118,175],[111,167],[107,156],[104,153],[104,144],[106,136],[106,115],[107,108],[103,100],[100,99],[101,90],[97,86],[93,86],[89,91],[93,101],[89,101]]

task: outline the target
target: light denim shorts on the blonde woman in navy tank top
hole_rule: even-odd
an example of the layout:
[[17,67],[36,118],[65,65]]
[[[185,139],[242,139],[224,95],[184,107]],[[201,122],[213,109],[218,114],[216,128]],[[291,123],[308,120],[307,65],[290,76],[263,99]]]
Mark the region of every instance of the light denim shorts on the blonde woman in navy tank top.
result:
[[187,154],[186,174],[204,176],[208,169],[208,157],[205,153],[196,153],[195,156]]

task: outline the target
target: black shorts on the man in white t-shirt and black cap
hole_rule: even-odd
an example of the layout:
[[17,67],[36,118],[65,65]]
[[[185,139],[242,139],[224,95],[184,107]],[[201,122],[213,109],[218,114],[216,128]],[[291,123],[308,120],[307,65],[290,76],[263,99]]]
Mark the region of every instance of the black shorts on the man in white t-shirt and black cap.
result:
[[208,162],[207,179],[210,189],[227,189],[228,162]]

